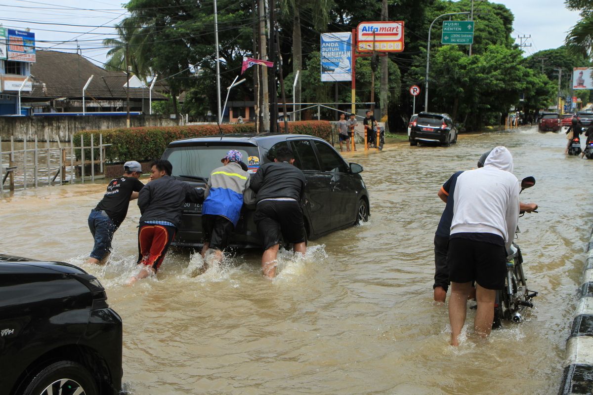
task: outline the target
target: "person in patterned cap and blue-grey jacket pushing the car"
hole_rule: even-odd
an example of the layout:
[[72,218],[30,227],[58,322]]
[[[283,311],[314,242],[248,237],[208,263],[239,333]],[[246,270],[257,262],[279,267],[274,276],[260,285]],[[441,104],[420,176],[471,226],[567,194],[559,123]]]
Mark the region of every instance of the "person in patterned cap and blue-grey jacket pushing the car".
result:
[[249,187],[249,174],[244,170],[247,166],[242,165],[241,152],[231,149],[221,162],[223,166],[210,174],[202,206],[202,258],[209,249],[213,249],[214,259],[218,262],[222,261],[222,251],[227,248],[228,237],[237,226],[243,194]]

